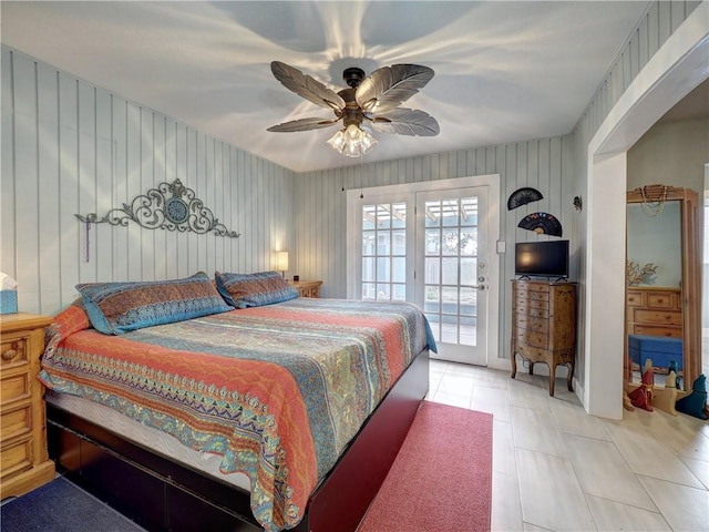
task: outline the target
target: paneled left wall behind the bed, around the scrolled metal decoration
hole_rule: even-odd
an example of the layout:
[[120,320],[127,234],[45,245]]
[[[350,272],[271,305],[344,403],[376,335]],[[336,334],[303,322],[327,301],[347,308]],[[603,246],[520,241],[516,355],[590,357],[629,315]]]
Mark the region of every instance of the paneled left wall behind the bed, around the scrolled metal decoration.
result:
[[[292,247],[292,172],[2,48],[0,268],[19,307],[54,314],[85,282],[269,269]],[[179,178],[239,238],[109,224],[102,216]],[[86,255],[89,260],[86,260]]]

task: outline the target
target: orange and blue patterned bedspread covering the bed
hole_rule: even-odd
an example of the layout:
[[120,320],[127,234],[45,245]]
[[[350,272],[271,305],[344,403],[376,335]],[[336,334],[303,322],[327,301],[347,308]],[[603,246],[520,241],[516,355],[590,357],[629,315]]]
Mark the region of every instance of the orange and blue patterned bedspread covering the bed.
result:
[[269,531],[302,519],[310,493],[425,347],[409,304],[297,298],[122,336],[81,305],[48,331],[40,379],[223,457],[251,483]]

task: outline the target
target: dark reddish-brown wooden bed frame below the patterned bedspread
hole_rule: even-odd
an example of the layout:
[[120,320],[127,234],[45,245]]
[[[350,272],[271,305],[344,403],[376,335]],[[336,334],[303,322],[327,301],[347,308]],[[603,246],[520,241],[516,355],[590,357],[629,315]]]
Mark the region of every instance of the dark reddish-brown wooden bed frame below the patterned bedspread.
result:
[[[379,491],[429,390],[419,354],[310,495],[297,532],[354,531]],[[48,405],[59,472],[147,530],[260,531],[249,493]]]

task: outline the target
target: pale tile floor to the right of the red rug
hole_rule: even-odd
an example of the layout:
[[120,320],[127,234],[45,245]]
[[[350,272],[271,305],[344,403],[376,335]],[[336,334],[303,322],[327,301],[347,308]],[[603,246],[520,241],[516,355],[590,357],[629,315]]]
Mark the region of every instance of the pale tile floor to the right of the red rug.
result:
[[493,531],[709,531],[709,421],[588,416],[566,379],[431,361],[429,400],[494,416]]

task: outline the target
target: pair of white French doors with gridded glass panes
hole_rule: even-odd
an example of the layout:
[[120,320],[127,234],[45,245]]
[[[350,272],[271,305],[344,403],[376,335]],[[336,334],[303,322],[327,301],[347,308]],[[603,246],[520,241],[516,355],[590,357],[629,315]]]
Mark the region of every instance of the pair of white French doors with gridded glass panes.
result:
[[486,208],[487,186],[373,190],[348,223],[360,243],[348,297],[415,303],[439,347],[432,357],[486,365]]

